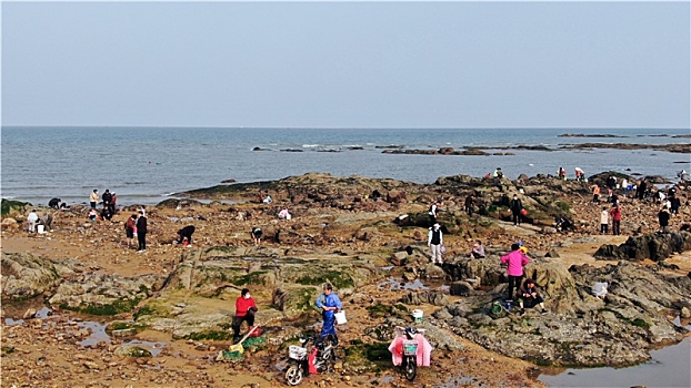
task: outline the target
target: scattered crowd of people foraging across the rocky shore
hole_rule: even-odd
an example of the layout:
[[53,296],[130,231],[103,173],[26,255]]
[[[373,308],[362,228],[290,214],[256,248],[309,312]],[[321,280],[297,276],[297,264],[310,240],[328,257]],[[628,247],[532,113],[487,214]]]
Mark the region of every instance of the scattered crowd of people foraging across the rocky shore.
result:
[[[488,174],[489,175],[489,174]],[[567,172],[564,169],[560,167],[557,172],[557,177],[560,180],[567,178]],[[492,174],[491,178],[494,182],[501,181],[503,178],[503,173],[501,167],[498,167]],[[584,177],[584,172],[577,167],[575,169],[575,178],[581,182],[587,182]],[[681,201],[674,187],[669,188],[667,192],[664,190],[657,188],[653,184],[647,182],[647,180],[641,180],[635,183],[630,183],[625,178],[618,180],[615,176],[609,176],[604,183],[604,188],[607,190],[607,198],[602,197],[602,187],[598,184],[593,184],[590,186],[592,192],[592,203],[598,205],[603,201],[607,201],[610,206],[602,206],[602,211],[600,212],[600,233],[609,234],[610,232],[613,235],[621,234],[621,198],[619,195],[622,195],[623,198],[638,200],[641,202],[650,203],[657,206],[660,206],[660,211],[658,212],[658,219],[660,224],[660,232],[669,232],[670,219],[673,215],[679,214],[679,210],[681,207]],[[271,205],[273,204],[273,198],[269,195],[267,191],[260,191],[258,194],[259,203],[262,205]],[[508,197],[507,197],[508,200]],[[99,196],[98,190],[93,190],[89,197],[90,210],[89,210],[89,219],[91,222],[97,221],[111,221],[112,216],[118,212],[117,208],[117,194],[111,193],[109,190],[106,190],[102,195]],[[102,208],[100,213],[97,211],[97,205],[99,202],[102,203]],[[475,203],[474,193],[468,194],[463,203],[463,211],[468,215],[473,214],[473,206]],[[504,203],[505,204],[505,203]],[[62,202],[61,198],[56,197],[49,202],[49,207],[53,210],[66,208],[67,204]],[[444,254],[444,227],[440,224],[439,221],[439,212],[441,202],[434,200],[431,202],[428,215],[429,215],[429,232],[427,244],[430,248],[431,262],[433,264],[443,265],[443,254]],[[513,225],[520,226],[522,222],[524,222],[527,211],[523,207],[523,203],[519,197],[519,194],[515,193],[512,195],[509,201],[508,211],[511,213],[511,221]],[[278,210],[279,207],[277,207]],[[292,215],[288,211],[288,207],[280,207],[281,210],[276,214],[276,217],[279,219],[290,221]],[[597,212],[594,212],[597,214]],[[27,221],[29,223],[29,232],[37,233],[38,226],[43,225],[46,231],[50,231],[52,216],[50,214],[46,214],[43,216],[39,216],[36,210],[32,210]],[[572,226],[572,223],[564,218],[558,217],[555,219],[555,225],[559,231],[568,229]],[[610,228],[611,225],[611,228]],[[146,211],[139,210],[136,214],[131,214],[127,222],[124,223],[126,237],[128,247],[133,246],[134,237],[137,237],[137,251],[144,252],[147,249],[147,232],[148,232],[148,222],[146,217]],[[196,227],[193,225],[188,225],[178,231],[177,243],[183,246],[191,246],[192,244],[192,235],[196,232]],[[262,229],[259,226],[253,226],[250,231],[250,235],[252,238],[252,243],[254,246],[260,246],[262,238]],[[485,247],[481,239],[475,239],[473,245],[468,253],[468,257],[471,259],[481,259],[487,257]],[[511,245],[511,251],[505,255],[500,257],[501,264],[507,266],[507,290],[505,290],[505,299],[508,300],[517,300],[520,306],[520,313],[523,314],[525,308],[535,308],[540,307],[541,314],[548,314],[544,307],[544,297],[541,294],[537,282],[532,278],[527,278],[524,273],[524,267],[530,263],[530,259],[527,255],[525,246],[522,246],[520,243],[515,243]],[[323,286],[323,293],[317,298],[316,306],[321,309],[323,325],[321,329],[321,337],[332,336],[338,343],[338,337],[336,333],[336,318],[334,314],[341,310],[342,303],[339,297],[333,293],[333,287],[331,284],[326,284]],[[236,316],[232,323],[233,329],[233,339],[237,341],[239,339],[241,333],[241,326],[243,323],[247,323],[249,329],[251,330],[254,325],[254,315],[258,312],[257,304],[254,299],[250,295],[250,290],[244,288],[241,290],[241,295],[236,302]]]

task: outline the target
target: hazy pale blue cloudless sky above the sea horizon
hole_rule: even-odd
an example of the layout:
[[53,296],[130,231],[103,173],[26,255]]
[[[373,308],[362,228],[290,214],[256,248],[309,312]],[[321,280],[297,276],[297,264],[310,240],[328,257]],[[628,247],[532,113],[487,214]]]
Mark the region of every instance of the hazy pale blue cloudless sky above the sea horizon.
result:
[[9,125],[691,127],[690,2],[7,2]]

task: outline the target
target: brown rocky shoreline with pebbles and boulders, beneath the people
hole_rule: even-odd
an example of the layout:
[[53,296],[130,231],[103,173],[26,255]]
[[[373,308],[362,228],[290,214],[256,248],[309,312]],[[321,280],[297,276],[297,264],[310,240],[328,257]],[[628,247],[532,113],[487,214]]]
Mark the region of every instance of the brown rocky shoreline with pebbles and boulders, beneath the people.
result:
[[[270,205],[256,200],[266,190]],[[680,232],[689,219],[688,190],[678,186],[687,205],[665,234],[655,234],[657,206],[622,196],[621,237],[597,234],[601,205],[591,203],[588,184],[545,176],[497,183],[457,175],[422,185],[306,174],[231,183],[183,193],[209,204],[168,200],[149,207],[151,248],[143,255],[127,248],[122,229],[139,206],[94,224],[84,223],[87,208],[72,206],[52,212],[51,233],[27,235],[20,224],[27,205],[3,201],[2,314],[23,324],[3,323],[2,371],[18,386],[37,376],[59,385],[76,371],[93,381],[109,376],[111,386],[137,376],[144,385],[176,387],[189,376],[198,378],[192,386],[280,386],[287,344],[320,321],[312,304],[326,280],[347,306],[349,324],[339,327],[337,374],[313,376],[320,386],[403,384],[385,347],[393,326],[412,324],[413,308],[425,312],[422,326],[437,349],[432,368],[419,376],[430,386],[463,376],[491,386],[539,386],[535,365],[637,364],[688,335],[673,321],[691,316],[691,234]],[[463,202],[471,192],[469,215]],[[513,193],[528,210],[520,227],[507,212]],[[430,264],[425,245],[432,200],[442,203],[438,219],[447,231],[442,266]],[[292,221],[277,218],[283,207]],[[559,216],[575,228],[558,233]],[[184,248],[173,239],[188,224],[197,232]],[[252,226],[264,231],[259,247],[249,237]],[[469,259],[477,238],[488,257]],[[518,239],[530,249],[527,273],[544,290],[548,315],[491,314],[505,288],[499,257]],[[610,283],[607,300],[590,294],[595,282]],[[233,302],[243,287],[260,304],[267,340],[249,350],[247,363],[228,364],[217,356],[230,345]],[[37,316],[44,306],[52,316]],[[102,317],[96,319],[109,339],[83,347],[93,330],[79,323],[89,317]],[[167,345],[156,356],[130,344],[161,337]],[[460,369],[459,357],[465,359]],[[497,374],[499,359],[505,363],[500,369],[513,370],[511,380]],[[29,374],[27,364],[54,377]]]

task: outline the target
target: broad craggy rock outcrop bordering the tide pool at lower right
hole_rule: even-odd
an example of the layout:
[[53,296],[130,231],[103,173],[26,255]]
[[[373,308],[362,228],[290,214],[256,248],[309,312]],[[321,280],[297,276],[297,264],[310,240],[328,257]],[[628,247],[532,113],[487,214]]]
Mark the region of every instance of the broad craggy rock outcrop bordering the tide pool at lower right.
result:
[[[667,315],[691,305],[691,278],[658,274],[628,262],[604,267],[532,263],[528,276],[537,278],[545,296],[547,315],[513,308],[503,317],[490,316],[502,297],[498,286],[487,294],[469,294],[434,313],[455,333],[509,357],[541,365],[625,366],[648,359],[661,344],[675,343],[688,333]],[[595,282],[610,283],[603,302],[591,295]]]

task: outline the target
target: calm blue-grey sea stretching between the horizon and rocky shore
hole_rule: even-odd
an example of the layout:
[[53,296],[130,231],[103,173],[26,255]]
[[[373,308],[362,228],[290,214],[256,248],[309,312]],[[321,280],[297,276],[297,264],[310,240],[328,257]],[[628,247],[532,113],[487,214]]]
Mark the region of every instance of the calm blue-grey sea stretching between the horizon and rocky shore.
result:
[[[562,137],[563,133],[618,137]],[[167,196],[224,180],[258,182],[309,172],[433,183],[440,176],[483,176],[502,167],[519,174],[587,176],[619,171],[674,178],[691,171],[689,155],[654,150],[561,150],[592,143],[688,143],[689,130],[548,129],[202,129],[202,127],[16,127],[1,131],[1,195],[46,205],[52,197],[88,203],[106,188],[120,205],[156,204]],[[542,145],[557,151],[501,150]],[[483,147],[514,155],[402,155],[387,147],[439,150]]]

